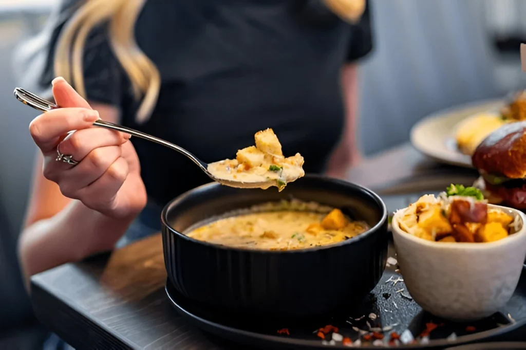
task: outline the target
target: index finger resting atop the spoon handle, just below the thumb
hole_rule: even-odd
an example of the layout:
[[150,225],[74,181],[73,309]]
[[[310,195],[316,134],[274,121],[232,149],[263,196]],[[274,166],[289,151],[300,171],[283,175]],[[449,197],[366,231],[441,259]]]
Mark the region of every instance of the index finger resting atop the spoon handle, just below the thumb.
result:
[[39,115],[29,124],[29,132],[44,154],[55,152],[60,139],[69,131],[92,126],[99,118],[97,111],[87,108],[58,108]]

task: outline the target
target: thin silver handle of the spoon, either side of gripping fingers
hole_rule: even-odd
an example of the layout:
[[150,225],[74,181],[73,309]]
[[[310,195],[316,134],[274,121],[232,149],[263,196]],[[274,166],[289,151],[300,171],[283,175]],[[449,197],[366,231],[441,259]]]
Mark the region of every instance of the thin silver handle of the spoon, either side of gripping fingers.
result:
[[[26,104],[26,105],[28,105],[30,107],[33,107],[33,108],[35,108],[35,109],[37,109],[38,111],[41,111],[41,112],[48,112],[48,111],[51,111],[52,109],[59,108],[56,104],[54,104],[52,102],[49,102],[46,99],[44,99],[44,98],[42,98],[42,97],[40,97],[38,95],[35,95],[32,92],[29,92],[29,91],[27,91],[27,90],[25,90],[23,88],[19,88],[19,87],[15,88],[14,94],[15,94],[16,98],[18,99],[18,101],[20,101],[20,102],[22,102],[22,103],[24,103],[24,104]],[[146,139],[148,141],[155,142],[155,143],[158,143],[160,145],[163,145],[163,146],[166,146],[168,148],[171,148],[174,151],[177,151],[177,152],[187,156],[188,158],[190,158],[191,161],[193,161],[195,164],[197,164],[197,166],[199,166],[201,169],[203,169],[203,171],[205,171],[208,174],[208,165],[206,163],[201,162],[199,158],[197,158],[195,155],[191,154],[190,152],[186,151],[186,149],[184,149],[183,147],[180,147],[180,146],[177,146],[177,145],[175,145],[175,144],[173,144],[171,142],[165,141],[162,138],[151,136],[149,134],[142,133],[142,132],[134,130],[134,129],[130,129],[130,128],[122,126],[122,125],[118,125],[118,124],[114,124],[114,123],[110,123],[110,122],[105,122],[103,120],[98,120],[95,123],[93,123],[93,125],[96,125],[96,126],[99,126],[99,127],[105,127],[107,129],[112,129],[112,130],[115,130],[115,131],[120,131],[120,132],[123,132],[123,133],[126,133],[126,134],[130,134],[132,136],[144,138],[144,139]]]

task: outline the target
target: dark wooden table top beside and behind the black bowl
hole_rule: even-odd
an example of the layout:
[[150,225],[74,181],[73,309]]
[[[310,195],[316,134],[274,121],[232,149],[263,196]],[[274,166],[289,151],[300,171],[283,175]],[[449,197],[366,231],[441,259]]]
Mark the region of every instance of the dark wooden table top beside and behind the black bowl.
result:
[[[473,169],[437,164],[402,145],[365,161],[348,179],[391,195],[440,191],[476,177]],[[165,281],[155,235],[33,276],[32,302],[37,317],[79,350],[231,348],[184,322],[168,303]]]

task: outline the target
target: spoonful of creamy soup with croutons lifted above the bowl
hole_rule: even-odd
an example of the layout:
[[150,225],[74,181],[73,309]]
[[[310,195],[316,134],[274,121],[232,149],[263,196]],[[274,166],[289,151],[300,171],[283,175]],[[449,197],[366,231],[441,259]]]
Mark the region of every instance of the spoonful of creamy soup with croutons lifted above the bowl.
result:
[[255,146],[239,149],[236,159],[210,163],[208,172],[228,181],[262,183],[264,189],[277,186],[279,191],[305,175],[303,157],[299,153],[285,157],[272,129],[257,132],[254,138]]

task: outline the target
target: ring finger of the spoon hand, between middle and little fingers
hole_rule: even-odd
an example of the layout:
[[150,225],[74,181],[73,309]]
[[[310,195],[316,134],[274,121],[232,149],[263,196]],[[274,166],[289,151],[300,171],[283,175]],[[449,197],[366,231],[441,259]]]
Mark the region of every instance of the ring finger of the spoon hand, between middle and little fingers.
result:
[[75,167],[64,170],[55,166],[45,176],[56,181],[66,197],[80,199],[79,191],[102,177],[121,155],[120,146],[95,148]]

